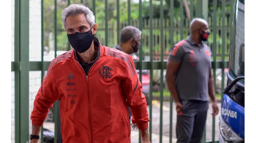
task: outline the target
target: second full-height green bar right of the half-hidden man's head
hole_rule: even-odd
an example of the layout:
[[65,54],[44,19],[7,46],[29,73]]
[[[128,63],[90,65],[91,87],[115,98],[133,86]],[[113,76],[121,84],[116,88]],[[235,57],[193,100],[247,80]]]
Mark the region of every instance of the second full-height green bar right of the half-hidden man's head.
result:
[[163,1],[160,1],[160,49],[161,49],[161,74],[160,74],[160,126],[159,126],[159,143],[162,143],[163,140],[163,63],[164,63],[164,5]]

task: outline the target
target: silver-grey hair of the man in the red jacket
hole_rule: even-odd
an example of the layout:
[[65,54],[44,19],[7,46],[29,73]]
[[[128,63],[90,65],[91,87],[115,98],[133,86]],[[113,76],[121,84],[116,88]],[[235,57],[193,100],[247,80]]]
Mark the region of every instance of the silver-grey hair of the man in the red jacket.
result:
[[93,12],[88,7],[86,7],[82,3],[80,3],[80,4],[70,4],[68,7],[66,7],[63,10],[63,13],[62,13],[62,23],[63,23],[63,26],[64,26],[65,30],[66,30],[66,19],[67,19],[67,17],[70,16],[70,15],[78,15],[78,14],[84,14],[85,15],[86,20],[90,24],[91,28],[95,24],[95,16],[93,15]]

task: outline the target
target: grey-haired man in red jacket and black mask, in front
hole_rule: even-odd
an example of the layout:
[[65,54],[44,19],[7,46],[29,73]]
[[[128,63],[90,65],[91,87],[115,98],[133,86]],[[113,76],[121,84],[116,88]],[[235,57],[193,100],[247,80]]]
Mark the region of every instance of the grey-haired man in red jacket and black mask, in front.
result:
[[64,143],[129,143],[129,106],[142,143],[150,143],[148,112],[131,56],[102,46],[93,12],[83,4],[64,9],[62,22],[74,50],[55,58],[34,101],[31,143],[38,143],[49,107],[60,99]]

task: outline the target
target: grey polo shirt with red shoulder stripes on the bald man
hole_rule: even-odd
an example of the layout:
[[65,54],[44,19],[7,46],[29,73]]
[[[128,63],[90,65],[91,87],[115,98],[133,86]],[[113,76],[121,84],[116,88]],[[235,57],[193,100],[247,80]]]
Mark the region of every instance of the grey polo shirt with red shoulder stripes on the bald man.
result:
[[169,60],[181,63],[175,75],[179,99],[208,101],[210,48],[203,42],[199,47],[189,36],[172,48]]

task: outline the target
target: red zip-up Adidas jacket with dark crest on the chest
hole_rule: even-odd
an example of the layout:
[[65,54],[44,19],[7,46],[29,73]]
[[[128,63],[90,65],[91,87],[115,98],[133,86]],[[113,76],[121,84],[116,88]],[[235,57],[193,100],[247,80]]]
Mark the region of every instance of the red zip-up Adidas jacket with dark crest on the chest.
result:
[[127,106],[139,129],[147,129],[150,121],[132,58],[100,45],[86,75],[75,55],[68,51],[49,65],[34,101],[32,124],[42,126],[49,108],[61,98],[63,143],[129,143]]

